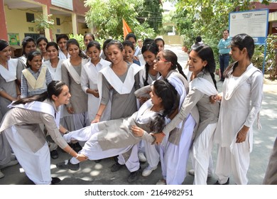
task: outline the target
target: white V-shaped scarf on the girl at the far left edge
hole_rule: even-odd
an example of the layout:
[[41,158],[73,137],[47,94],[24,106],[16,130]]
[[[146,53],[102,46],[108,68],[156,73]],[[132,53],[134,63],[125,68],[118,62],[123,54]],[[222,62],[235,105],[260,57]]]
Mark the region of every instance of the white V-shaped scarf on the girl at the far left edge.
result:
[[6,82],[12,82],[13,80],[16,80],[17,63],[17,59],[8,60],[9,70],[4,68],[4,66],[0,64],[0,75],[6,80]]

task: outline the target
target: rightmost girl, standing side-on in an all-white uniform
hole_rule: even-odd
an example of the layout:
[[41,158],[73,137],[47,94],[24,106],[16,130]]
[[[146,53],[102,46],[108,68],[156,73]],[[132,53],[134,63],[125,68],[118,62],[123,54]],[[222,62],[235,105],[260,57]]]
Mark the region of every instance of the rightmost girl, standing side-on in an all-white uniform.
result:
[[253,145],[252,126],[261,109],[263,99],[263,74],[251,63],[254,54],[254,40],[246,34],[234,36],[231,52],[236,62],[224,72],[219,120],[214,134],[219,144],[215,174],[216,184],[228,184],[229,175],[234,183],[246,185],[250,153]]

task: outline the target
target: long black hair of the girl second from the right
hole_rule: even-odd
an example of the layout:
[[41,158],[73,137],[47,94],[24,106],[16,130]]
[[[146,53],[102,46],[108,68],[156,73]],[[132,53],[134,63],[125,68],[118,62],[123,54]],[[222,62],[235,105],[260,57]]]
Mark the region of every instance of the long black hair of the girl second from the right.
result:
[[194,50],[197,53],[197,56],[203,61],[207,61],[207,65],[203,68],[203,71],[210,73],[212,81],[214,82],[214,87],[217,89],[217,81],[214,78],[215,60],[212,48],[210,48],[209,45],[201,44],[195,45],[192,50]]

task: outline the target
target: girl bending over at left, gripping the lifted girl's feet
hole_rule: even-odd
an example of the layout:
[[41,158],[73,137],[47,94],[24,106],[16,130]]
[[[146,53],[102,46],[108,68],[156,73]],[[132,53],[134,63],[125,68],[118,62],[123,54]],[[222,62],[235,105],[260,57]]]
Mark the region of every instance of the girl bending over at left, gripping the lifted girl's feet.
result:
[[[48,85],[47,92],[13,102],[10,105],[12,109],[2,120],[0,133],[6,134],[18,162],[35,184],[48,185],[59,181],[51,178],[50,153],[39,124],[45,125],[51,138],[61,149],[80,161],[85,160],[60,135],[59,106],[67,104],[69,98],[70,92],[65,83],[53,81]],[[65,133],[66,129],[60,129]]]

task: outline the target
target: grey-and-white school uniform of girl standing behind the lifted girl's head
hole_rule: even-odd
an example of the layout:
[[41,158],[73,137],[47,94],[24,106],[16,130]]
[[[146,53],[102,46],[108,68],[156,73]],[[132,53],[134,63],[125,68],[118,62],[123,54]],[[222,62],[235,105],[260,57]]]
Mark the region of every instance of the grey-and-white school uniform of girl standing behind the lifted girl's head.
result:
[[177,90],[180,104],[179,113],[163,129],[165,143],[160,147],[162,174],[168,185],[180,185],[185,180],[192,134],[198,127],[199,113],[197,107],[192,107],[183,119],[181,109],[185,105],[188,81],[176,70],[168,72],[165,79]]

